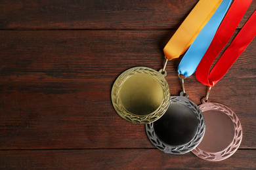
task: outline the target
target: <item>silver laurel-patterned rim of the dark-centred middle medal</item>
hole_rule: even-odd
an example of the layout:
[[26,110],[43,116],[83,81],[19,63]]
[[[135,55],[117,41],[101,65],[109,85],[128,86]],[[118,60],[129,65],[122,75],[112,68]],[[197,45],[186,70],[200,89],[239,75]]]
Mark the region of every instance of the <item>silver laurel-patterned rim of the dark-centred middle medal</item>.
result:
[[154,144],[154,146],[156,146],[156,148],[158,148],[159,150],[167,154],[186,154],[187,152],[190,152],[191,150],[196,148],[196,146],[198,146],[198,144],[200,144],[203,139],[203,135],[205,133],[205,120],[203,117],[203,113],[199,109],[198,105],[190,101],[190,99],[188,99],[187,97],[172,96],[170,103],[181,103],[189,107],[195,113],[198,120],[198,129],[194,137],[188,143],[178,146],[164,143],[163,141],[161,141],[160,138],[158,138],[158,135],[154,131],[154,123],[146,125],[146,134],[148,135],[148,139],[150,140],[150,142]]

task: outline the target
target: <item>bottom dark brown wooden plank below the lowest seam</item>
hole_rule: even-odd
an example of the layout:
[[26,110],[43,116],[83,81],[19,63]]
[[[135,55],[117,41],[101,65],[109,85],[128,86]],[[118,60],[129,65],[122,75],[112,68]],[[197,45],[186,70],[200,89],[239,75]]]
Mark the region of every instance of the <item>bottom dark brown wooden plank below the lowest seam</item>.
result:
[[255,169],[255,161],[256,150],[238,150],[220,162],[201,160],[192,153],[165,154],[157,149],[0,152],[0,169]]

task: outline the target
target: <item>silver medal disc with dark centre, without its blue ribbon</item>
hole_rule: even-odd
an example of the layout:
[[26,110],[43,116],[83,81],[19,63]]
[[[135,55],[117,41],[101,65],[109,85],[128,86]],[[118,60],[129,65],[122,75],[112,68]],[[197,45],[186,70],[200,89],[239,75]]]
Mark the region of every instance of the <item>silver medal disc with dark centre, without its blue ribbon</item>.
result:
[[146,125],[148,138],[156,148],[167,154],[185,154],[202,141],[205,120],[202,111],[181,92],[171,97],[165,114]]

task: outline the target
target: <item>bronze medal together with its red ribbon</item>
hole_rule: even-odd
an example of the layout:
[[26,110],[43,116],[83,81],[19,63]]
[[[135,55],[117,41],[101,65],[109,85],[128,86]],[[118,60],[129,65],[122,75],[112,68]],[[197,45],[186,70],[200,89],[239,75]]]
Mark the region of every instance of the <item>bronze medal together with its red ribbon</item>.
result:
[[225,105],[211,103],[209,92],[255,37],[256,12],[253,12],[234,41],[226,48],[211,73],[209,71],[214,59],[234,33],[250,3],[251,1],[234,1],[196,69],[196,78],[208,86],[207,95],[202,99],[202,105],[199,106],[205,117],[205,135],[202,142],[192,150],[203,160],[224,160],[236,152],[242,141],[242,126],[238,116]]

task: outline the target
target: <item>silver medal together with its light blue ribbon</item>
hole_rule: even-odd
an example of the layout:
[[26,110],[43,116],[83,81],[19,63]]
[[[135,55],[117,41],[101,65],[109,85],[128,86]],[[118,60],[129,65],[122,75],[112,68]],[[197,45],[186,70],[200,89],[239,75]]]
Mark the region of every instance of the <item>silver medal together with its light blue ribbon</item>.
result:
[[202,141],[205,120],[200,108],[188,99],[184,79],[196,71],[230,3],[231,0],[224,0],[221,3],[182,58],[178,68],[182,82],[180,96],[171,97],[165,114],[156,122],[146,125],[146,133],[152,144],[167,154],[185,154]]

